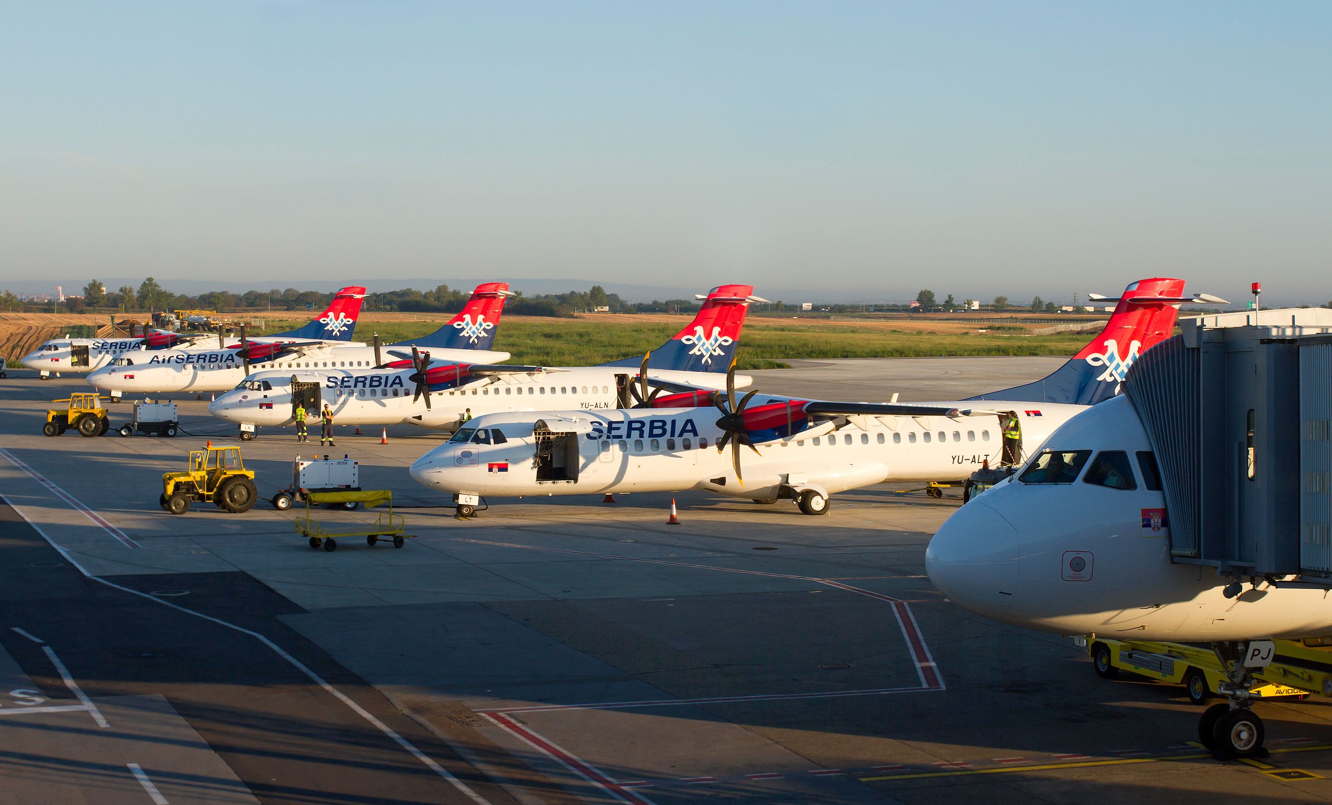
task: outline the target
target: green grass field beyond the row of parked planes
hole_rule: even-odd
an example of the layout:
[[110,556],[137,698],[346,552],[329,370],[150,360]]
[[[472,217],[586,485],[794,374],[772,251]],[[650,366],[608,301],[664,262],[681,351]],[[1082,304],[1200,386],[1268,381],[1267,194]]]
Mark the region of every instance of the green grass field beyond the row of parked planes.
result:
[[[626,321],[642,319],[642,321]],[[537,366],[590,366],[642,355],[659,346],[687,322],[686,317],[614,317],[545,319],[505,317],[496,350],[513,354],[511,362]],[[274,321],[265,331],[297,327],[304,321]],[[793,358],[924,358],[939,355],[1072,355],[1090,333],[1027,335],[1022,329],[976,333],[975,329],[924,330],[846,323],[787,323],[751,319],[737,353],[738,367],[781,369]],[[370,342],[378,331],[388,343],[434,331],[440,322],[364,321],[356,339]],[[928,325],[926,325],[928,326]],[[943,329],[951,333],[939,331]],[[261,333],[254,333],[256,335]]]

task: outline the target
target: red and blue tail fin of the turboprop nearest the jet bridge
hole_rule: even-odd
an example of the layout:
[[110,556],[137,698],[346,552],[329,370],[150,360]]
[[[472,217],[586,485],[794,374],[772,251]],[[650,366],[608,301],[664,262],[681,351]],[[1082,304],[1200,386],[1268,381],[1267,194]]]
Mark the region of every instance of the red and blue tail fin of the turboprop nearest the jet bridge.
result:
[[1138,355],[1169,338],[1179,317],[1179,306],[1193,301],[1183,293],[1183,279],[1139,279],[1124,289],[1106,329],[1050,377],[970,399],[1079,406],[1094,406],[1110,399],[1119,394],[1124,373]]

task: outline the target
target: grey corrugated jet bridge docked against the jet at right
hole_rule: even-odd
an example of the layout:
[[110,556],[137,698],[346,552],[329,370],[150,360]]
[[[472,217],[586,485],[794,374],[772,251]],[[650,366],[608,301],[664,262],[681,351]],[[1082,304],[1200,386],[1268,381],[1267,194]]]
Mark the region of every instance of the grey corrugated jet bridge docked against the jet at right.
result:
[[1332,310],[1180,327],[1123,385],[1156,454],[1172,562],[1332,587]]

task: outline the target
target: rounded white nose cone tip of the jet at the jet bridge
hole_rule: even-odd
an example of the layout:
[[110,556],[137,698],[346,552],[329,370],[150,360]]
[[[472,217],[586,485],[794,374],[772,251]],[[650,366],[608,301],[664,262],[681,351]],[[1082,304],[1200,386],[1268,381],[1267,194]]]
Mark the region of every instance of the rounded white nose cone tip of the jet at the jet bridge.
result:
[[954,603],[987,616],[1012,604],[1020,550],[1018,531],[982,500],[959,508],[924,552],[930,581]]

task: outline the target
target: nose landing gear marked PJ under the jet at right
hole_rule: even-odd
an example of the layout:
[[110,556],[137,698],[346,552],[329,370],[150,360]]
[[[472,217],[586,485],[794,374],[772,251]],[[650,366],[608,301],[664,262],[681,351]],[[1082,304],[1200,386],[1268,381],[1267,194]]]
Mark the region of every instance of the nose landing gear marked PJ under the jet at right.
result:
[[1252,688],[1253,667],[1264,667],[1272,661],[1272,644],[1213,643],[1212,651],[1221,667],[1228,669],[1225,679],[1216,685],[1216,692],[1229,701],[1213,704],[1203,712],[1197,721],[1197,740],[1212,750],[1216,760],[1267,757],[1267,749],[1263,748],[1267,730],[1263,720],[1252,711],[1256,699]]

